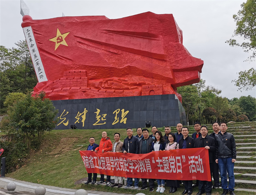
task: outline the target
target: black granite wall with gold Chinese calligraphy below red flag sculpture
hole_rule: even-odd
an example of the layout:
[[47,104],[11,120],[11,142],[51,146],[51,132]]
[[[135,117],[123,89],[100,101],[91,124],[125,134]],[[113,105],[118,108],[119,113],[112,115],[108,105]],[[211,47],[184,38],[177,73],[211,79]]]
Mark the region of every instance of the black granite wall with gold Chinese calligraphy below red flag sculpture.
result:
[[[80,129],[143,128],[145,121],[151,121],[151,125],[156,127],[176,126],[179,122],[186,124],[185,109],[175,94],[52,102],[59,110],[58,116],[60,116],[55,129],[70,129],[70,125]],[[118,109],[120,109],[119,113],[117,113]],[[113,114],[115,110],[117,111]]]

